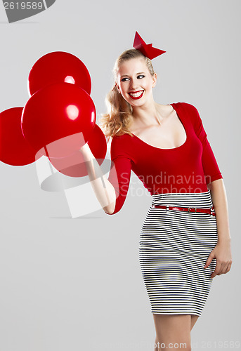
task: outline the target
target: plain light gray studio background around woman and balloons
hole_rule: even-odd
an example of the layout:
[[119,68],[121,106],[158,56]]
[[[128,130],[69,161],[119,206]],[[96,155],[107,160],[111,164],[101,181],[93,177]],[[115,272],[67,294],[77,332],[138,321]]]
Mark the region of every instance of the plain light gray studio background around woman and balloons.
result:
[[[232,238],[232,268],[214,278],[193,350],[240,340],[240,9],[240,0],[58,0],[10,25],[0,4],[1,111],[25,105],[30,68],[48,52],[85,63],[99,117],[115,58],[136,30],[167,51],[152,61],[155,101],[199,110],[226,185]],[[152,350],[138,263],[151,197],[136,176],[122,211],[72,219],[63,192],[40,189],[34,164],[0,167],[0,350]]]

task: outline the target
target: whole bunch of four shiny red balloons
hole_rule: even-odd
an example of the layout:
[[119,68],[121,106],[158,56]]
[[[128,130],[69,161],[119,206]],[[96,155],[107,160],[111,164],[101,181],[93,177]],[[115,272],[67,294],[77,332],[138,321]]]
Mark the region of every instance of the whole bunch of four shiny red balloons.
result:
[[44,156],[67,176],[86,176],[79,152],[85,143],[103,162],[105,135],[96,124],[89,71],[79,58],[63,51],[42,56],[30,70],[28,90],[25,107],[0,113],[2,162],[24,166]]

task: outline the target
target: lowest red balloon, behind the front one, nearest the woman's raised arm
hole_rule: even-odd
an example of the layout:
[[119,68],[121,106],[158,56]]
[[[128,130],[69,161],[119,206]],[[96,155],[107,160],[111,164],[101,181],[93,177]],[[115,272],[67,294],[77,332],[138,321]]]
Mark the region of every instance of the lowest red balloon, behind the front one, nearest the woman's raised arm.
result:
[[[89,145],[93,156],[101,165],[105,159],[107,151],[106,139],[103,131],[100,127],[95,124],[93,127],[93,133],[91,134],[87,144]],[[63,158],[49,158],[51,164],[65,176],[70,177],[84,177],[88,176],[86,166],[84,163],[84,157],[80,151],[75,152],[70,157]]]

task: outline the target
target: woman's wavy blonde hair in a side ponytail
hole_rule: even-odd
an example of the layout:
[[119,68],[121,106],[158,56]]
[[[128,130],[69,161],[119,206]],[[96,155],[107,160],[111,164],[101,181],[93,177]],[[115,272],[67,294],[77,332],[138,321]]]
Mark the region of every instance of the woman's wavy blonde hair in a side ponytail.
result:
[[[153,76],[155,74],[152,67],[152,62],[150,58],[147,58],[141,51],[136,48],[124,51],[117,60],[115,61],[114,68],[112,69],[112,74],[114,75],[115,81],[117,81],[117,72],[122,65],[122,62],[130,60],[131,58],[143,58],[145,64],[147,65],[150,74]],[[112,137],[114,135],[122,135],[128,133],[133,136],[129,131],[129,126],[133,121],[132,112],[133,109],[131,104],[127,102],[122,94],[117,90],[115,84],[114,88],[105,96],[105,105],[107,106],[108,112],[102,114],[100,118],[100,125],[103,128],[103,132],[107,137]]]

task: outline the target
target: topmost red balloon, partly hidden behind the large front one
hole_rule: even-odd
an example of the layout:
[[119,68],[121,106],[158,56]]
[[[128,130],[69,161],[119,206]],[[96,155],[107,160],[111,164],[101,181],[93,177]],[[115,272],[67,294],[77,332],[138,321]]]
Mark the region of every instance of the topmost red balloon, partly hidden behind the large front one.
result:
[[91,94],[91,76],[84,63],[71,53],[47,53],[34,63],[28,77],[28,88],[33,95],[44,86],[72,83]]

